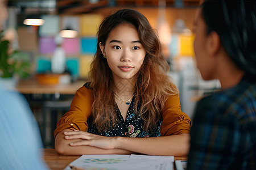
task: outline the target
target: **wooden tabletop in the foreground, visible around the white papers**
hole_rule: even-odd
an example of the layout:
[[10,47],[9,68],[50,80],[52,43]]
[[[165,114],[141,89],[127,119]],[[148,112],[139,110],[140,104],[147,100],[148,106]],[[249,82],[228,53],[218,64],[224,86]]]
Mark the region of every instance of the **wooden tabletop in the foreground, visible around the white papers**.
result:
[[[59,155],[54,149],[40,149],[45,162],[50,169],[64,169],[67,165],[80,156]],[[187,156],[174,156],[174,160],[187,160]]]

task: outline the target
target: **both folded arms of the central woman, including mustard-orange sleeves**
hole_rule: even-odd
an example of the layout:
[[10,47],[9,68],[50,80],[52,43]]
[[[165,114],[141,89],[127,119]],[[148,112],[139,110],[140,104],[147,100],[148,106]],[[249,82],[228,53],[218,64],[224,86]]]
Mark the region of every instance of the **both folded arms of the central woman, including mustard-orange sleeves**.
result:
[[[169,97],[166,101],[160,127],[162,137],[155,138],[102,137],[87,133],[86,121],[92,112],[91,107],[92,95],[87,88],[80,88],[72,101],[70,111],[61,118],[55,130],[55,149],[59,154],[188,154],[191,121],[181,112],[178,95]],[[64,134],[64,131],[68,132]]]

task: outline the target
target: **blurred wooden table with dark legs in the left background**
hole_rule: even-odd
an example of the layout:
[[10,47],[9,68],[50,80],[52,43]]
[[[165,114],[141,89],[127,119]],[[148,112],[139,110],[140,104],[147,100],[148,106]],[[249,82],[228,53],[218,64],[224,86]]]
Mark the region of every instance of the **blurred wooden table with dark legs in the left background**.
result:
[[[56,128],[58,121],[57,113],[68,111],[67,108],[70,107],[73,96],[85,82],[87,82],[86,79],[79,79],[68,84],[40,84],[35,76],[19,80],[15,91],[20,92],[27,98],[40,125],[44,146],[52,147],[54,145],[53,130]],[[52,113],[47,114],[47,112]],[[46,129],[49,128],[47,125],[51,125],[51,129],[48,131],[50,134],[47,133]],[[48,141],[46,140],[47,136],[49,136]]]

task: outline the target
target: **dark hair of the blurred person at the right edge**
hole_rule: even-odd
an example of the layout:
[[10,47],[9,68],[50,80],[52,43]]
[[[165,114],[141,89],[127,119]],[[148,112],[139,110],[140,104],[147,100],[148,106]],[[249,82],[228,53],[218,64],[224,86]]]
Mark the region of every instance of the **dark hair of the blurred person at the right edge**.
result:
[[[256,2],[206,0],[202,16],[207,32],[215,31],[229,57],[245,74],[256,75]],[[255,78],[255,77],[254,77]]]

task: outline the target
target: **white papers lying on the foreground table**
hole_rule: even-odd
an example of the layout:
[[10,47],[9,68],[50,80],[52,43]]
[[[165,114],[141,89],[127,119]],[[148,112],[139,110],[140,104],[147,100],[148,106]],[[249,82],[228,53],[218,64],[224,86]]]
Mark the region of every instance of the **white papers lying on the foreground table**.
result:
[[[172,170],[174,169],[174,156],[150,155],[82,155],[64,170]],[[75,168],[74,168],[75,169]]]

